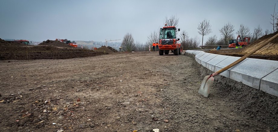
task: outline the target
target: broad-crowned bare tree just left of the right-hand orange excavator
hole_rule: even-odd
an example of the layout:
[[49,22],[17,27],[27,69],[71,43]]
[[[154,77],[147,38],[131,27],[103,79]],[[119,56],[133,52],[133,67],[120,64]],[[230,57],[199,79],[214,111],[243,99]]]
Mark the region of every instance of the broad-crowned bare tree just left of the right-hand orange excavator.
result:
[[220,30],[219,30],[221,36],[224,38],[224,45],[228,44],[227,39],[229,37],[234,36],[234,26],[230,23],[225,24]]

